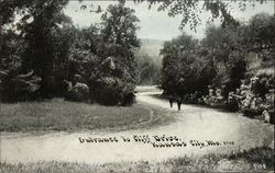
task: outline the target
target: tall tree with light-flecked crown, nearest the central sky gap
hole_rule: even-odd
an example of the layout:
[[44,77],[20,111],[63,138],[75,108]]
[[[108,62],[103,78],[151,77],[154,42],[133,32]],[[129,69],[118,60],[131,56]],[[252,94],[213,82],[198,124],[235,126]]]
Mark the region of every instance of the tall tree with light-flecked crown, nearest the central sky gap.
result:
[[122,74],[119,78],[130,83],[135,83],[138,80],[133,50],[140,47],[140,39],[136,37],[139,19],[134,12],[133,9],[125,8],[124,3],[111,4],[101,18],[103,25],[101,35],[105,43],[101,55],[114,57],[117,74]]

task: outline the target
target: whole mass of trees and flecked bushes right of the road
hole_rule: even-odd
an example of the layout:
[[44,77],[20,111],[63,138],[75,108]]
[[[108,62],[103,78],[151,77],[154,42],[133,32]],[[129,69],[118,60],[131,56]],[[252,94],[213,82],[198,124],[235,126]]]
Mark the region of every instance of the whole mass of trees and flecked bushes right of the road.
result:
[[274,19],[261,13],[239,26],[209,25],[202,41],[183,34],[166,42],[161,51],[164,94],[185,103],[274,114]]

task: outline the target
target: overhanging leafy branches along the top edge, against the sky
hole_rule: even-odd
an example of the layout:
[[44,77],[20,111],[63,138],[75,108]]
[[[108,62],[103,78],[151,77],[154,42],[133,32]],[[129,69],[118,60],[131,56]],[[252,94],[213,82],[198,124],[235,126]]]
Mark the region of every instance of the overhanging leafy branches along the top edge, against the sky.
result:
[[[50,2],[53,0],[46,0],[45,2]],[[67,2],[68,0],[62,0]],[[79,0],[82,3],[84,0]],[[125,0],[118,0],[119,2],[125,2]],[[134,0],[136,3],[141,3],[144,0]],[[227,24],[238,24],[238,21],[231,15],[231,8],[227,4],[226,1],[222,0],[204,0],[202,7],[200,7],[199,0],[147,0],[150,2],[150,7],[158,5],[158,11],[168,11],[168,15],[183,15],[180,28],[189,24],[191,30],[196,31],[196,26],[200,24],[199,13],[205,11],[210,11],[212,14],[211,19],[220,19],[222,21],[223,26]],[[239,3],[239,8],[241,10],[245,10],[246,5],[256,5],[262,4],[266,0],[257,0],[257,1],[231,1],[234,3]],[[24,10],[28,9],[30,5],[35,3],[36,0],[3,0],[0,1],[0,25],[4,25],[7,23],[11,23],[14,20],[14,11],[22,10],[21,13],[24,15]],[[88,5],[82,4],[81,9],[87,9]],[[101,8],[98,7],[95,10],[95,5],[91,5],[91,12],[100,12]]]

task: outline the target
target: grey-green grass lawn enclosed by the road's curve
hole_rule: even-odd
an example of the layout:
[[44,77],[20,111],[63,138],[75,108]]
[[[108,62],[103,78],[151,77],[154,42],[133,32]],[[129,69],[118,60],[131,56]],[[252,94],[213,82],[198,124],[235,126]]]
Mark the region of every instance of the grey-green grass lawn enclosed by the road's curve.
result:
[[0,104],[0,131],[80,131],[151,127],[170,120],[164,109],[134,104],[102,106],[54,99]]

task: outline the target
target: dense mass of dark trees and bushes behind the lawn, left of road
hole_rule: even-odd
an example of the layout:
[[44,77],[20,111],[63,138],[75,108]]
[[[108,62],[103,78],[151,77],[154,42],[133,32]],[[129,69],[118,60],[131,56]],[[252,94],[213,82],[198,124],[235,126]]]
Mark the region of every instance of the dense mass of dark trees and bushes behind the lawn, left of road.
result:
[[[1,12],[1,100],[66,96],[108,105],[133,103],[139,77],[133,50],[140,46],[134,10],[124,3],[109,5],[101,23],[78,28],[63,13],[67,3],[1,2],[7,11]],[[16,14],[22,16],[19,22]],[[28,77],[18,79],[21,76]]]

